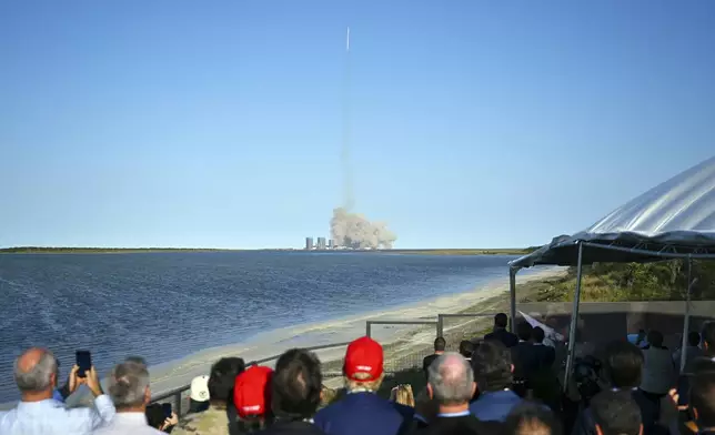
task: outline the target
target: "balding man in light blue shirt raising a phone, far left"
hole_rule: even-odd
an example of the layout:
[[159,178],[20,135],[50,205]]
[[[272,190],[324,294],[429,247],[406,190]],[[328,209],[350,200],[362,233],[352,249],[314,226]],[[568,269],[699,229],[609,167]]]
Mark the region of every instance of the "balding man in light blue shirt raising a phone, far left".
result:
[[94,396],[93,407],[67,408],[53,399],[57,388],[58,362],[52,352],[32,347],[14,362],[14,378],[22,395],[16,408],[0,413],[2,435],[91,434],[114,417],[114,405],[104,395],[94,367],[85,377],[77,376],[79,367],[70,372],[70,390],[85,384]]

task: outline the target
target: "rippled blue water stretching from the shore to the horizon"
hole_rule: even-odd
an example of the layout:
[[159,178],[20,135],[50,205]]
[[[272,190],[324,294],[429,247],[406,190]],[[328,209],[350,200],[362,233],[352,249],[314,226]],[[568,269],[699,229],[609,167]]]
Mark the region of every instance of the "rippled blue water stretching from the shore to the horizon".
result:
[[506,276],[511,256],[359,253],[0,255],[0,403],[17,399],[14,357],[47,346],[62,378],[74,351],[101,373],[259,332],[396,307]]

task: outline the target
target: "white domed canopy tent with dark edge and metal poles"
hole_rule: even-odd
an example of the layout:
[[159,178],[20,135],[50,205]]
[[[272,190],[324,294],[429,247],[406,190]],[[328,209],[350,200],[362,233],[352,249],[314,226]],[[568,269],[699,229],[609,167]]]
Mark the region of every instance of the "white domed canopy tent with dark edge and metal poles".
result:
[[[570,337],[576,333],[584,264],[652,262],[668,259],[715,260],[715,156],[627,202],[587,230],[561,235],[510,263],[511,317],[516,315],[516,273],[534,265],[576,266]],[[692,282],[688,277],[683,340],[687,336]],[[512,327],[513,327],[512,322]],[[574,340],[568,342],[566,376]],[[685,362],[685,352],[683,361]]]

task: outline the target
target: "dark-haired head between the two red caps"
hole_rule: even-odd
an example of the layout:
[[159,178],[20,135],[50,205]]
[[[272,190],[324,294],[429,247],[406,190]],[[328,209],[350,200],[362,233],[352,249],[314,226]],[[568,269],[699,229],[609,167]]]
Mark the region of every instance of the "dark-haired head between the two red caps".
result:
[[302,348],[285,352],[275,363],[273,413],[288,419],[312,417],[321,405],[322,387],[320,360],[314,353]]

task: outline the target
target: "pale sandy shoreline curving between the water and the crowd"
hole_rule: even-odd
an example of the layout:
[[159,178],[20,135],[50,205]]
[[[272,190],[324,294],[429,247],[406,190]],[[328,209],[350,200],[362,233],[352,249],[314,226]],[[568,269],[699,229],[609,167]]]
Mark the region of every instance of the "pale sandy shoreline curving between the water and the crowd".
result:
[[[564,269],[555,267],[531,273],[523,273],[517,281],[520,295],[526,283],[552,279],[564,273]],[[332,343],[346,343],[365,334],[366,321],[436,321],[437,314],[456,313],[493,313],[507,311],[508,307],[508,275],[496,279],[484,285],[464,293],[440,296],[404,307],[362,313],[333,321],[285,327],[262,333],[243,342],[220,347],[205,348],[178,361],[157,364],[150,367],[152,393],[154,396],[188,385],[194,376],[208,374],[211,364],[223,356],[241,356],[251,362],[280,355],[291,347],[309,347]],[[459,344],[461,336],[474,334],[491,325],[492,320],[460,318],[445,322],[444,335],[450,347]],[[400,370],[396,365],[411,364],[416,358],[421,361],[425,352],[430,352],[435,337],[435,327],[430,325],[381,326],[372,328],[372,336],[385,347],[385,370]],[[338,346],[315,352],[323,362],[323,371],[339,372],[344,346]],[[274,361],[264,364],[272,365]],[[391,364],[393,366],[391,366]],[[335,378],[340,381],[340,378]],[[330,385],[332,386],[332,385]],[[81,394],[75,394],[70,402],[82,401]],[[71,403],[70,403],[71,404]],[[12,404],[0,404],[0,409]]]

